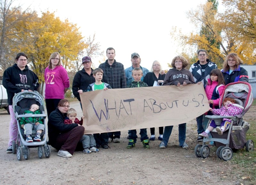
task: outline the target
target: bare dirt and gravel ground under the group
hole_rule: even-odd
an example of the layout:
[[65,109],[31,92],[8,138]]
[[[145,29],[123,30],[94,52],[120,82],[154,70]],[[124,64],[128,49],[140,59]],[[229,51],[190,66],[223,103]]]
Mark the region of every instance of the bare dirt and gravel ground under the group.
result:
[[[70,107],[81,117],[78,102]],[[236,167],[220,160],[216,147],[210,149],[207,159],[195,156],[196,120],[187,123],[188,150],[179,147],[178,126],[174,126],[165,149],[158,147],[157,139],[150,142],[149,150],[140,142],[126,149],[128,133],[123,131],[120,143],[110,143],[111,148],[97,153],[75,152],[72,158],[65,159],[52,148],[50,158],[39,159],[37,148],[30,148],[30,158],[18,161],[16,154],[6,153],[10,115],[1,109],[0,116],[0,184],[240,184],[241,175],[234,173]],[[245,120],[254,118],[255,107],[251,107]]]

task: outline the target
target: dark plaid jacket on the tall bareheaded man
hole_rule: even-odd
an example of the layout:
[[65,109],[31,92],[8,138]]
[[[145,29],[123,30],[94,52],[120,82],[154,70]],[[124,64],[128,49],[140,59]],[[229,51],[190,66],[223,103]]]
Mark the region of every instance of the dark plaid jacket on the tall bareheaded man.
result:
[[103,82],[108,83],[113,89],[127,88],[126,77],[124,72],[124,65],[116,62],[112,65],[108,64],[108,60],[105,63],[101,63],[99,66],[103,70]]

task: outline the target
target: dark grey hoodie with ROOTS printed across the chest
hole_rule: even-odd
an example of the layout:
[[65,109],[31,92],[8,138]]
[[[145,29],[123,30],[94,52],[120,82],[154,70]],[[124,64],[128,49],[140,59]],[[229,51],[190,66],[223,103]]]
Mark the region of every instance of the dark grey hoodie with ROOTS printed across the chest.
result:
[[182,85],[184,81],[187,84],[195,84],[193,75],[189,70],[185,68],[177,70],[174,67],[166,73],[163,85],[177,85],[179,82]]

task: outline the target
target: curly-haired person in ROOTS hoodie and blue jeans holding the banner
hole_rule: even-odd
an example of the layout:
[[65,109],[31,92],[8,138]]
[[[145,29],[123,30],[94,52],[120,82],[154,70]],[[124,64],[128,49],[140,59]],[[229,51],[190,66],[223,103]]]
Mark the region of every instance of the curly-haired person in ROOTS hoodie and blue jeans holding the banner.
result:
[[[175,56],[172,59],[172,69],[170,69],[164,78],[163,85],[177,85],[178,87],[188,84],[195,84],[192,73],[185,69],[188,65],[187,59],[183,56]],[[164,127],[164,135],[163,141],[159,144],[160,148],[165,148],[169,141],[169,137],[171,136],[173,126],[165,126]],[[188,144],[186,143],[186,123],[179,124],[179,143],[180,147],[188,148]]]

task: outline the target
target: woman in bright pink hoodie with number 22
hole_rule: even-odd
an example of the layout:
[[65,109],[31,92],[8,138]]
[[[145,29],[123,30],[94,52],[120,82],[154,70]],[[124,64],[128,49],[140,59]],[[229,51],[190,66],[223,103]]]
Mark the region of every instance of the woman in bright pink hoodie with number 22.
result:
[[49,58],[49,66],[44,70],[45,103],[47,115],[54,111],[69,87],[68,73],[61,65],[61,57],[58,52],[52,53]]

